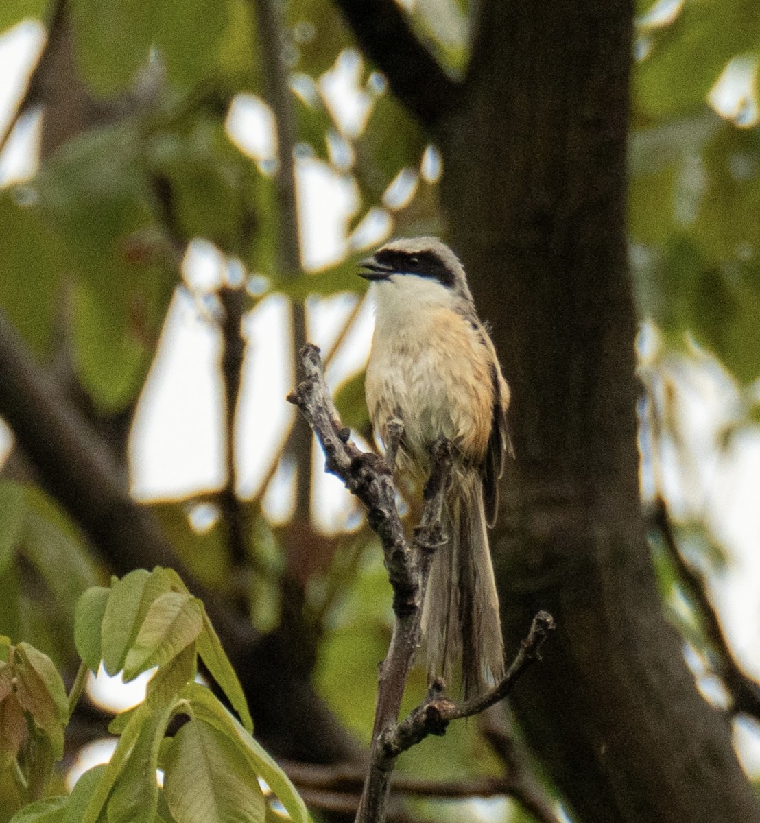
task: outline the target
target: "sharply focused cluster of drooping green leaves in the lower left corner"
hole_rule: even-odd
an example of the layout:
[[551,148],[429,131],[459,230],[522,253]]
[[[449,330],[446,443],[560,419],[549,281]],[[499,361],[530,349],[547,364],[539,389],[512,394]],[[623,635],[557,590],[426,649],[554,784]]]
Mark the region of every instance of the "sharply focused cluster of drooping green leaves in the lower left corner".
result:
[[[135,570],[110,588],[87,589],[77,603],[75,632],[82,665],[92,672],[102,663],[130,681],[156,671],[146,699],[110,724],[119,742],[109,764],[82,775],[71,795],[40,797],[21,808],[13,823],[279,819],[261,781],[293,821],[310,821],[286,775],[251,736],[240,683],[203,603],[174,571]],[[26,786],[36,779],[31,796],[39,797],[63,755],[77,694],[67,698],[54,664],[29,644],[0,639],[0,658],[0,766],[26,771]],[[196,682],[198,659],[240,719]],[[24,760],[30,742],[33,753]]]

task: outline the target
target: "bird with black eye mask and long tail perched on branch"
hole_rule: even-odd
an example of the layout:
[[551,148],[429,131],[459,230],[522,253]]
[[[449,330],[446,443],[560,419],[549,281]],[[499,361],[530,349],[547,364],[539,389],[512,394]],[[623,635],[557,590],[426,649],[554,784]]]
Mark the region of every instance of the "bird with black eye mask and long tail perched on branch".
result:
[[445,495],[448,542],[436,551],[422,606],[428,676],[461,677],[465,697],[504,674],[499,601],[486,527],[497,516],[497,481],[511,450],[510,390],[478,319],[464,268],[441,240],[394,240],[361,263],[373,281],[375,333],[366,402],[380,439],[403,422],[397,467],[419,483],[431,446],[453,446]]

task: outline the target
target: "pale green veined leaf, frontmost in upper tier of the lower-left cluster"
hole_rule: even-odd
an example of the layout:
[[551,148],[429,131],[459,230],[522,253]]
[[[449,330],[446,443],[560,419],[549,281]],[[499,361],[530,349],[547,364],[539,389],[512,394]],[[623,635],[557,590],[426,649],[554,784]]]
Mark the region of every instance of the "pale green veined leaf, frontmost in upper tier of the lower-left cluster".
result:
[[142,621],[138,636],[124,661],[124,680],[161,666],[191,644],[203,629],[202,605],[184,592],[156,597]]

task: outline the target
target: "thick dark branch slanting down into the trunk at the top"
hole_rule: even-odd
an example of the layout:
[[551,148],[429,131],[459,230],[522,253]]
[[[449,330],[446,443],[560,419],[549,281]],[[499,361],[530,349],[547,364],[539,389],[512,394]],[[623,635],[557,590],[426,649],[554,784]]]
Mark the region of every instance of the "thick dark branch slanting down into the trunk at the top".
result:
[[390,90],[427,129],[459,100],[459,83],[417,39],[394,0],[335,0],[357,43],[388,78]]

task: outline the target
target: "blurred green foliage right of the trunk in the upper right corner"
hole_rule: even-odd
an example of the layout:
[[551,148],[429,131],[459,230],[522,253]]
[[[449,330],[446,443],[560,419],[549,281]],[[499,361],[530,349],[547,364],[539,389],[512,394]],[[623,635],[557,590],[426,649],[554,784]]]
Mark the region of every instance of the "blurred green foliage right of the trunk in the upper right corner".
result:
[[[750,384],[760,377],[760,18],[746,0],[641,11],[629,195],[636,294],[669,346],[683,350],[688,332]],[[725,72],[730,61],[739,71]]]

